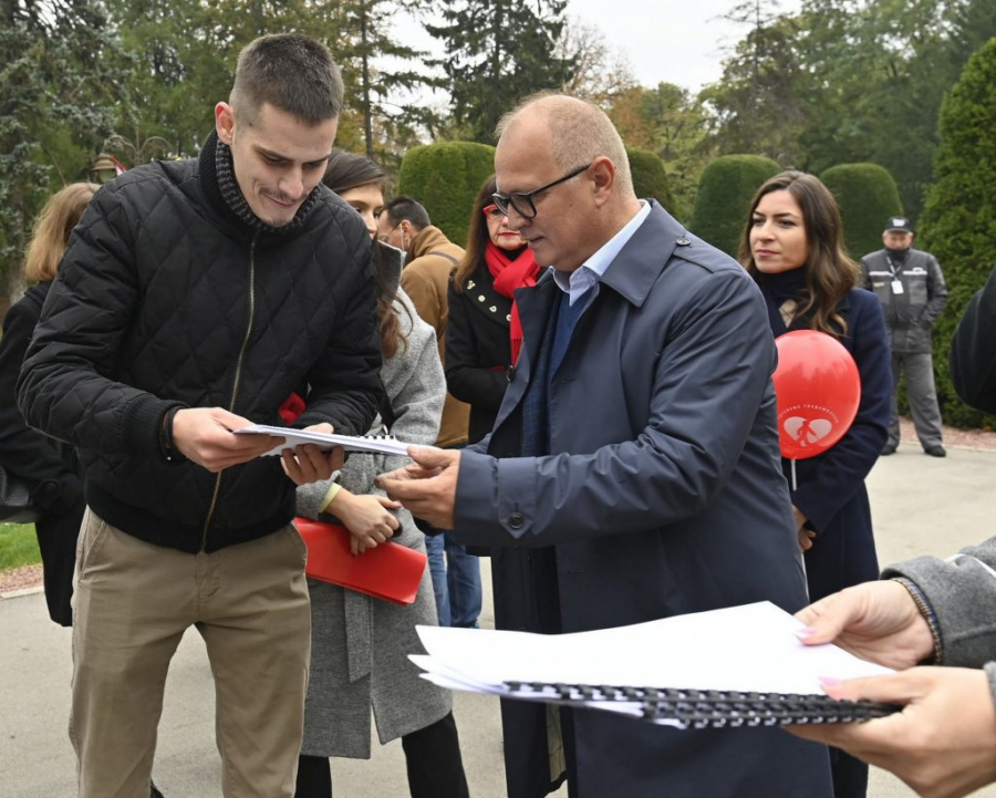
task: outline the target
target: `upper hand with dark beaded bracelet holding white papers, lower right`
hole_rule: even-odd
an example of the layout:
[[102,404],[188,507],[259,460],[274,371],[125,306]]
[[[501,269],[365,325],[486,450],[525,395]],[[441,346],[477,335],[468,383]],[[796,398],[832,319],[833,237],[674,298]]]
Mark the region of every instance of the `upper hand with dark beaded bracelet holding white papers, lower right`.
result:
[[886,667],[912,667],[934,651],[931,629],[910,592],[894,580],[864,582],[796,613],[807,645],[837,643]]

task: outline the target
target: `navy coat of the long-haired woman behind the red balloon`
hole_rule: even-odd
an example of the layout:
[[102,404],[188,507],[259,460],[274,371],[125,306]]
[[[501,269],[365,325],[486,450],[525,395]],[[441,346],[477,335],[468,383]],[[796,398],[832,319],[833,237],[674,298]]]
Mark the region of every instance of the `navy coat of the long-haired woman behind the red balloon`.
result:
[[[789,328],[778,312],[780,301],[764,282],[761,290],[777,339]],[[864,478],[888,437],[892,396],[889,338],[881,302],[870,291],[852,289],[837,310],[848,323],[847,335],[837,340],[851,353],[861,377],[858,415],[834,446],[816,457],[796,460],[795,489],[792,463],[781,460],[792,504],[817,532],[812,548],[806,552],[811,601],[879,577]],[[808,321],[796,320],[790,329],[809,329]]]

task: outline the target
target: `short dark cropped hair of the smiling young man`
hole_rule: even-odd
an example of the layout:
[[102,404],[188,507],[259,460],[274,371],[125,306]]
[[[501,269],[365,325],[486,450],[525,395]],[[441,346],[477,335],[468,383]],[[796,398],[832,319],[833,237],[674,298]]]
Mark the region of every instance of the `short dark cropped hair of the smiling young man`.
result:
[[343,87],[329,48],[298,33],[260,37],[239,53],[229,103],[255,118],[263,104],[309,125],[342,112]]

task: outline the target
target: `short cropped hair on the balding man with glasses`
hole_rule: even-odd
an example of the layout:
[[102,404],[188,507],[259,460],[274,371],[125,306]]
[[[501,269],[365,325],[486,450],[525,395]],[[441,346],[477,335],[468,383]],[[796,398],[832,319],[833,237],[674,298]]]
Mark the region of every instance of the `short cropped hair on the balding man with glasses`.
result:
[[630,158],[619,131],[604,111],[584,100],[553,92],[532,94],[502,115],[495,129],[496,138],[505,134],[516,116],[533,105],[547,118],[553,158],[561,169],[567,173],[605,156],[615,165],[620,190],[633,194]]

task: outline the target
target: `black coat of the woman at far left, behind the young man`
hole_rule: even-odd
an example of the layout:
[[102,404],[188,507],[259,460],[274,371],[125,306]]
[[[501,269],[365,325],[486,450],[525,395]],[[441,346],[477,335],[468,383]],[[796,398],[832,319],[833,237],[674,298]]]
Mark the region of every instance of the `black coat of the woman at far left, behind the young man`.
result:
[[14,385],[34,325],[41,315],[49,282],[28,289],[3,318],[0,339],[0,464],[24,480],[31,504],[42,512],[34,525],[44,567],[49,615],[72,624],[73,566],[83,519],[83,473],[72,446],[31,429],[15,402]]

